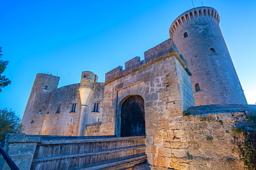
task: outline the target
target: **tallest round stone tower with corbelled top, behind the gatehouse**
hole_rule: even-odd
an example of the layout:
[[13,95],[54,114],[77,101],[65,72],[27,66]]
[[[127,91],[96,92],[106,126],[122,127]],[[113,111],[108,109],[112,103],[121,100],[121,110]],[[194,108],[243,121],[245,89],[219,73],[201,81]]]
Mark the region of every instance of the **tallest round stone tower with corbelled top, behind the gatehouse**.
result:
[[188,62],[195,105],[247,105],[214,8],[193,8],[170,27],[170,37]]

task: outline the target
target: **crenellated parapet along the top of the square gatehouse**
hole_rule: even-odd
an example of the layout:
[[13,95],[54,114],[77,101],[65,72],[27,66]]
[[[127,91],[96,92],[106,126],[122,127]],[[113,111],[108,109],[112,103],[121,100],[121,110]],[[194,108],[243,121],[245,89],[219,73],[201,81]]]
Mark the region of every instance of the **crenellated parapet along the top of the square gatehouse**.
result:
[[[163,41],[163,43],[160,43],[144,52],[145,59],[143,61],[140,61],[140,57],[136,56],[134,57],[134,59],[131,59],[125,63],[125,70],[122,70],[122,66],[118,66],[110,72],[107,72],[107,74],[105,74],[105,82],[110,81],[112,78],[115,78],[117,76],[121,76],[122,74],[134,70],[151,61],[154,61],[155,59],[158,59],[159,57],[167,54],[168,52],[172,52],[172,50],[175,50],[177,54],[179,54],[179,50],[177,49],[176,45],[174,45],[173,41],[171,39],[167,39],[166,41]],[[182,56],[179,56],[178,58],[182,58]],[[180,62],[184,63],[184,69],[186,69],[187,62],[185,61],[185,59],[181,59]],[[189,70],[188,74],[190,74]]]

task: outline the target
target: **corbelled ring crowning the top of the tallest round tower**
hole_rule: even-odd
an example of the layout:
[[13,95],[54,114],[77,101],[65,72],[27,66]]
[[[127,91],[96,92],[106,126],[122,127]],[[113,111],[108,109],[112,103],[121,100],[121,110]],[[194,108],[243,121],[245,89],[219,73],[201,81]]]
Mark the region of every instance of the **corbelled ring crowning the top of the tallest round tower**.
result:
[[193,8],[191,10],[187,10],[186,12],[183,12],[179,17],[177,17],[171,27],[170,27],[170,37],[173,39],[174,32],[179,29],[184,23],[188,23],[192,20],[199,19],[199,18],[205,18],[210,17],[212,19],[215,19],[217,23],[219,24],[220,18],[217,10],[211,7],[201,6],[198,8]]

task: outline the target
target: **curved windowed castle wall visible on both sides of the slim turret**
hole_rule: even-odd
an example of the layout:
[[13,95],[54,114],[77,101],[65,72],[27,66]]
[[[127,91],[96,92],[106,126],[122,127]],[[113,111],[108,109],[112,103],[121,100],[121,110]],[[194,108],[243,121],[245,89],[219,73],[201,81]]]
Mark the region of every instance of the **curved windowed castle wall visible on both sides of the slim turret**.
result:
[[[55,89],[51,93],[48,105],[48,114],[44,119],[42,133],[44,135],[57,136],[79,136],[81,120],[80,84],[68,85]],[[93,94],[89,98],[89,113],[84,118],[84,129],[86,125],[97,123],[102,116],[104,85],[95,83]],[[99,103],[98,112],[93,112],[94,103]],[[73,103],[76,103],[75,110],[72,110]],[[61,105],[60,112],[57,112],[58,105]]]

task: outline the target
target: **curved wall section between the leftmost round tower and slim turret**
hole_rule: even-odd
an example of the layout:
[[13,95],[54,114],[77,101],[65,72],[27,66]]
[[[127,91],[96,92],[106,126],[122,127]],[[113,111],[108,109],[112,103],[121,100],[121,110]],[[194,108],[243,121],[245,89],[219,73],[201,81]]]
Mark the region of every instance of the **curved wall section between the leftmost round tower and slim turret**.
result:
[[[79,87],[80,84],[67,85],[51,93],[42,134],[77,136],[80,121]],[[77,105],[75,111],[71,112],[73,103]],[[61,105],[60,111],[57,111],[58,105]]]

